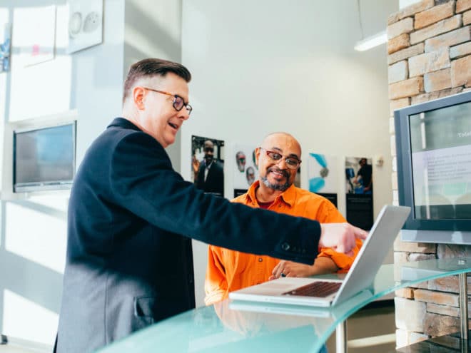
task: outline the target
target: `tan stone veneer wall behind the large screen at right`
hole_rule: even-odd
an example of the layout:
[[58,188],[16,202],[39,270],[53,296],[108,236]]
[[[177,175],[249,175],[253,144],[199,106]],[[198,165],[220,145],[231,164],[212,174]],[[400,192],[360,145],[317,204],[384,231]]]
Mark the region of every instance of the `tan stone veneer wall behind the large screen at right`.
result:
[[[393,200],[397,169],[393,111],[471,90],[471,0],[423,0],[388,19]],[[471,256],[471,246],[401,242],[394,262]],[[469,277],[468,282],[471,277]],[[471,285],[470,285],[471,287]],[[471,288],[468,287],[468,293]],[[395,293],[397,347],[460,330],[458,279],[446,277]]]

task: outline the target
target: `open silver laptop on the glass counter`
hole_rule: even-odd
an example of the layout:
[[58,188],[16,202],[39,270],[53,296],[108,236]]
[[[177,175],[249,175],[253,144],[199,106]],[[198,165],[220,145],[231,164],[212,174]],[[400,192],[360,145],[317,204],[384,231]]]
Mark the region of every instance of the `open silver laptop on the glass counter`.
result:
[[344,280],[280,277],[229,293],[231,300],[330,307],[373,285],[385,256],[410,213],[405,206],[385,205]]

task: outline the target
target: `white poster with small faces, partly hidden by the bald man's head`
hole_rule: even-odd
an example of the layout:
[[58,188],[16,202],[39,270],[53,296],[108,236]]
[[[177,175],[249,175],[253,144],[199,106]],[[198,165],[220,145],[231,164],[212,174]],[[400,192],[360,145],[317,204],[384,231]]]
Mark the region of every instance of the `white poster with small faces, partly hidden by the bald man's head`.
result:
[[258,180],[258,165],[255,163],[256,145],[235,144],[231,157],[234,170],[234,198],[246,193],[250,185]]

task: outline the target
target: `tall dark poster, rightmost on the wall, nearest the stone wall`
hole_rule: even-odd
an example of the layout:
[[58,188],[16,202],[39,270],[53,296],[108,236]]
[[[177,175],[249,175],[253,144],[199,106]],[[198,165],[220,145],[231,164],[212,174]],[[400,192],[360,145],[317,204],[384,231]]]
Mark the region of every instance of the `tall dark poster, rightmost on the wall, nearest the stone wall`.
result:
[[370,230],[373,225],[373,165],[371,158],[345,158],[347,221]]

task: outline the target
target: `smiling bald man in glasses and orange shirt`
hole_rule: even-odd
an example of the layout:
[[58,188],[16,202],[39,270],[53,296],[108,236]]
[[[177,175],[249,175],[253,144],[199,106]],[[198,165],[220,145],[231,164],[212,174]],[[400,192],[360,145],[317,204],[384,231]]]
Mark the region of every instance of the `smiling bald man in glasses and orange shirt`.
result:
[[[255,150],[259,180],[233,202],[318,220],[321,223],[345,222],[329,200],[293,185],[300,166],[301,148],[288,133],[272,133]],[[361,242],[353,249],[355,256]],[[282,277],[307,277],[330,272],[347,272],[354,257],[324,247],[313,265],[278,260],[210,245],[206,270],[206,305],[228,297],[229,292]]]

